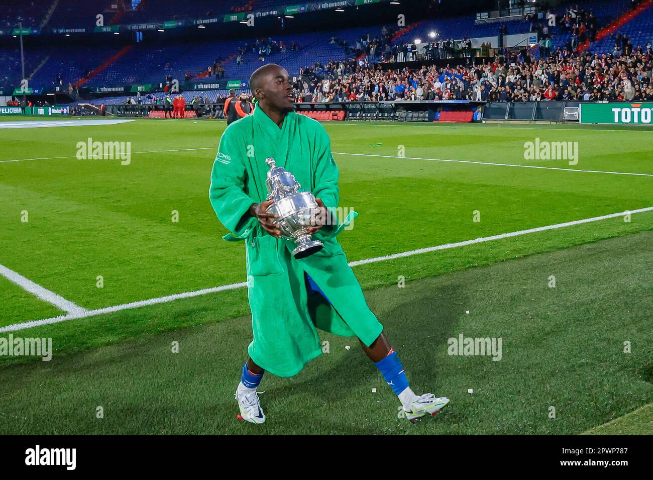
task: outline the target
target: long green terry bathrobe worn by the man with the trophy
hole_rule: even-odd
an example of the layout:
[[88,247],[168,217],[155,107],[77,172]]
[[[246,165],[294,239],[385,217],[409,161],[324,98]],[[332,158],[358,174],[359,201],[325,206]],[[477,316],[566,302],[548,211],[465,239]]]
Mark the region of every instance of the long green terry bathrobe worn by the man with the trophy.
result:
[[[383,326],[368,308],[336,240],[357,214],[350,212],[341,225],[328,225],[313,234],[324,248],[300,260],[291,253],[294,242],[274,238],[247,214],[251,204],[266,199],[268,157],[294,174],[302,188],[322,199],[327,208],[335,208],[340,200],[338,167],[319,122],[291,112],[279,129],[258,107],[253,115],[227,127],[215,156],[209,196],[218,219],[231,232],[223,238],[246,241],[253,328],[247,351],[264,370],[290,377],[322,353],[317,328],[355,335],[369,346]],[[304,272],[330,304],[323,296],[308,293]]]

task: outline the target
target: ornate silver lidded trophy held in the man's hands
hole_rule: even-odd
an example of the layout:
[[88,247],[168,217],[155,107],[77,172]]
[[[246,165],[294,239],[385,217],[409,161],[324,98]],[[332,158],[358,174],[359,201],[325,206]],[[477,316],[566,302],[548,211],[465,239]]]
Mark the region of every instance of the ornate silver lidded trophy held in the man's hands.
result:
[[295,240],[297,246],[293,249],[296,259],[303,259],[320,251],[323,243],[313,240],[308,233],[308,227],[315,225],[313,215],[319,208],[315,197],[310,191],[302,191],[295,176],[288,170],[274,165],[274,158],[266,158],[270,167],[265,185],[268,187],[268,198],[273,203],[266,212],[276,214],[272,219],[285,238]]

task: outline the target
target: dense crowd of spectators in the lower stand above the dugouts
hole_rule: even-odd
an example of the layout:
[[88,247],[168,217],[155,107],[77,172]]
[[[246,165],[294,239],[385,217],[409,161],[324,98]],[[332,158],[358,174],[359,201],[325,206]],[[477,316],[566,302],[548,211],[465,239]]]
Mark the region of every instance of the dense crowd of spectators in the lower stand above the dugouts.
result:
[[[578,53],[557,48],[535,59],[532,50],[517,56],[507,50],[488,63],[411,70],[383,70],[355,59],[319,63],[303,69],[295,83],[297,101],[653,101],[650,78],[653,51],[629,48],[624,35],[613,54]],[[626,47],[624,47],[626,42]],[[616,50],[616,48],[615,48]]]

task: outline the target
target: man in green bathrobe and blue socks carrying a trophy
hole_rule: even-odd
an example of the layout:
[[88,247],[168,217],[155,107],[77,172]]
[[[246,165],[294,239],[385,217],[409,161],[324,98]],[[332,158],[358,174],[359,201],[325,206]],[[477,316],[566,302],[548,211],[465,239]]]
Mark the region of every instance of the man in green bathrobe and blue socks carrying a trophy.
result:
[[360,285],[336,235],[340,225],[316,224],[313,238],[324,248],[304,259],[291,254],[295,244],[281,238],[272,204],[266,201],[268,157],[295,175],[303,189],[315,195],[329,218],[338,206],[338,167],[330,139],[322,125],[298,115],[288,72],[268,64],[255,71],[249,88],[258,100],[252,115],[234,121],[220,139],[211,174],[210,200],[218,219],[227,227],[228,241],[244,240],[247,288],[253,340],[236,390],[239,417],[263,423],[265,415],[256,391],[263,372],[281,377],[298,374],[322,353],[317,330],[357,336],[366,355],[398,395],[406,418],[435,415],[449,400],[433,394],[417,396],[408,386],[406,372],[383,334],[383,326],[368,308]]

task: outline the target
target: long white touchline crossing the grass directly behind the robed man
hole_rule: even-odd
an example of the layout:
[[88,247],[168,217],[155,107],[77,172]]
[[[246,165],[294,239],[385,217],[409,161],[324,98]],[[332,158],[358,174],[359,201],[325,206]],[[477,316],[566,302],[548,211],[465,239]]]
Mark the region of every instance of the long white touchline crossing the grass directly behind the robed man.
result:
[[[398,259],[402,257],[410,257],[411,255],[419,255],[420,253],[428,253],[430,251],[463,247],[472,244],[480,244],[483,242],[490,242],[492,240],[500,240],[501,238],[509,238],[512,236],[525,235],[528,233],[561,229],[564,227],[570,227],[571,225],[581,225],[581,223],[590,223],[592,221],[607,220],[610,218],[622,217],[627,214],[639,214],[642,212],[652,212],[652,211],[653,211],[653,206],[649,206],[646,208],[638,208],[637,210],[626,210],[625,212],[619,212],[618,214],[609,214],[609,215],[602,215],[600,217],[592,217],[592,218],[585,218],[581,220],[567,221],[564,223],[556,223],[555,225],[547,225],[545,227],[535,227],[533,229],[520,230],[517,232],[502,233],[502,234],[492,235],[492,236],[483,236],[481,238],[475,238],[473,240],[465,240],[464,242],[455,242],[452,244],[444,244],[436,247],[428,247],[428,248],[420,248],[417,250],[403,251],[402,253],[394,253],[393,255],[385,255],[383,257],[374,257],[372,259],[358,260],[355,262],[349,262],[349,266],[357,266],[357,265],[363,265],[367,263],[375,263],[375,262],[382,262],[386,260]],[[119,310],[129,310],[131,308],[139,308],[148,305],[172,302],[172,300],[179,300],[180,298],[190,298],[192,296],[206,295],[208,293],[221,292],[225,290],[234,290],[234,289],[239,289],[244,287],[247,287],[246,282],[231,283],[229,285],[221,285],[220,287],[213,287],[209,289],[202,289],[202,290],[196,290],[196,291],[185,292],[185,293],[176,293],[175,295],[161,296],[159,298],[150,298],[150,300],[140,300],[139,302],[131,302],[131,303],[116,305],[112,307],[98,308],[97,310],[86,310],[85,312],[69,313],[68,315],[59,315],[58,317],[46,318],[42,320],[33,320],[24,323],[14,323],[13,325],[7,325],[7,327],[0,327],[0,333],[15,332],[16,330],[24,330],[25,328],[39,327],[40,325],[50,325],[51,323],[59,323],[66,320],[93,317],[95,315],[102,315],[103,313],[118,312]]]

